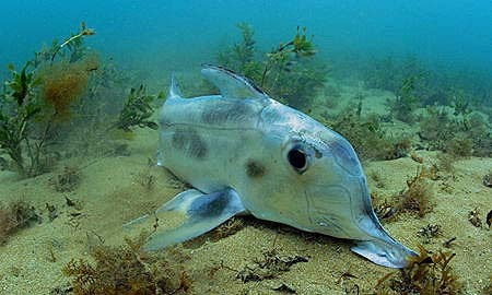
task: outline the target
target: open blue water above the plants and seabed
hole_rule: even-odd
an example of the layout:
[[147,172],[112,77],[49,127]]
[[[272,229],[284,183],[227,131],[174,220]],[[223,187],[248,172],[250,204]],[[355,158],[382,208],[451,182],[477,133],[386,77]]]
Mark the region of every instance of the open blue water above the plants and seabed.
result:
[[[90,46],[144,71],[212,62],[237,36],[257,33],[263,50],[306,26],[319,55],[356,63],[415,55],[425,63],[480,72],[490,79],[490,1],[95,1],[2,4],[0,62],[22,62],[33,49],[65,36],[82,20],[102,37]],[[362,64],[359,64],[362,67]],[[5,70],[3,70],[4,72]]]

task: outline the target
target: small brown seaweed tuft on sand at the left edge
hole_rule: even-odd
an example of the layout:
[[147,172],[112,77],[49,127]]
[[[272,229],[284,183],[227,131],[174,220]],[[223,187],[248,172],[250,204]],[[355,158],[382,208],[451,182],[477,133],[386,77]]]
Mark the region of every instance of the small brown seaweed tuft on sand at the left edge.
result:
[[39,222],[40,216],[31,204],[15,201],[8,205],[0,204],[0,245],[17,231]]

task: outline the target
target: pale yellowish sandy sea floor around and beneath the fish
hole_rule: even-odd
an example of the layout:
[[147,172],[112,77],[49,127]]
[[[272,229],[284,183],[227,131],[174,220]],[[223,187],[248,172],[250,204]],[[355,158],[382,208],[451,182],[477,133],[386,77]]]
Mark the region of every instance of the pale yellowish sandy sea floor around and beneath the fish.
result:
[[[124,244],[124,223],[178,193],[183,189],[179,181],[153,165],[156,141],[155,131],[139,130],[127,141],[130,154],[126,156],[72,157],[60,162],[51,173],[23,180],[0,172],[2,202],[28,201],[43,217],[0,246],[0,294],[57,294],[56,288],[66,290],[71,279],[61,269],[71,259],[90,260],[95,245]],[[364,163],[372,192],[377,198],[390,198],[406,188],[407,179],[415,175],[419,166],[436,162],[436,152],[417,154],[423,164],[411,157]],[[73,191],[59,192],[54,181],[66,166],[78,169],[81,182]],[[424,245],[432,251],[456,253],[450,266],[459,276],[462,294],[481,294],[491,284],[492,236],[485,215],[492,209],[492,189],[482,184],[490,170],[492,158],[457,160],[453,172],[432,180],[435,194],[431,212],[423,217],[401,213],[384,222],[391,236],[410,248],[417,250]],[[69,206],[67,198],[77,201],[78,208]],[[57,209],[52,221],[47,204]],[[470,223],[472,210],[478,210],[481,227]],[[211,233],[179,246],[189,258],[184,267],[192,282],[191,293],[279,294],[290,290],[297,294],[373,294],[378,280],[395,271],[351,252],[350,240],[253,217],[238,219],[242,227],[233,235],[218,239]],[[440,225],[442,234],[424,240],[418,232],[429,224]],[[443,243],[453,237],[456,239],[445,248]],[[265,252],[306,261],[271,279],[243,282],[241,270],[253,266]]]

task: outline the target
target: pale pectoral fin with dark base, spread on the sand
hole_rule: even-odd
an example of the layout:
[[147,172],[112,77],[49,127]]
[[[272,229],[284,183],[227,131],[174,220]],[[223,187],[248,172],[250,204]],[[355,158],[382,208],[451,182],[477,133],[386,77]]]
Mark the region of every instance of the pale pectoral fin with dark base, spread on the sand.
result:
[[144,245],[159,250],[204,234],[245,211],[233,189],[204,194],[196,189],[178,193],[153,214],[125,224],[130,229],[153,231]]

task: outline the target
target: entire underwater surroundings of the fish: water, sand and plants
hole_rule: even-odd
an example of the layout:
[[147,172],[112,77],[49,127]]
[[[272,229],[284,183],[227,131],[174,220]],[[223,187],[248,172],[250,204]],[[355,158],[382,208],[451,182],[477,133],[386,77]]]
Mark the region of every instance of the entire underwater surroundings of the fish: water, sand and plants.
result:
[[[0,7],[0,294],[491,294],[491,1]],[[418,260],[253,217],[144,253],[121,225],[186,188],[156,121],[173,72],[216,93],[202,63],[345,137]]]

